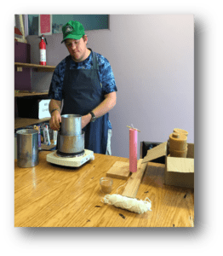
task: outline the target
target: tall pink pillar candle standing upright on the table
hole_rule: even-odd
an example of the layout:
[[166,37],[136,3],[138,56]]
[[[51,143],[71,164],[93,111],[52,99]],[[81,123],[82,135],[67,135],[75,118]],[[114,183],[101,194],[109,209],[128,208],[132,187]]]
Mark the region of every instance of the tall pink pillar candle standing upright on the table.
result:
[[129,172],[137,172],[137,132],[129,129]]

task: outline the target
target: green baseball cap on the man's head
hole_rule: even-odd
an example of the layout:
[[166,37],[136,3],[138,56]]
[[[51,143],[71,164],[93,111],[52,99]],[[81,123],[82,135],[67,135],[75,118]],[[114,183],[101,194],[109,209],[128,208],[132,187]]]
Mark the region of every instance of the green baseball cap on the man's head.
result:
[[85,35],[83,25],[77,20],[67,22],[66,25],[62,27],[62,32],[64,39],[61,44],[68,38],[79,40]]

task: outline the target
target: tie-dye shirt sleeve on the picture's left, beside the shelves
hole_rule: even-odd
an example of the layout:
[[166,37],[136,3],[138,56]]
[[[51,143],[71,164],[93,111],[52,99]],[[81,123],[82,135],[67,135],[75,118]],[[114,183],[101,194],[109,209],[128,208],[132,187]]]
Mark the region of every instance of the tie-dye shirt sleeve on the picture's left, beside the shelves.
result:
[[54,70],[53,77],[51,80],[51,84],[49,86],[48,97],[50,99],[54,99],[56,101],[62,101],[62,89],[63,89],[63,81],[64,81],[64,63],[60,63]]

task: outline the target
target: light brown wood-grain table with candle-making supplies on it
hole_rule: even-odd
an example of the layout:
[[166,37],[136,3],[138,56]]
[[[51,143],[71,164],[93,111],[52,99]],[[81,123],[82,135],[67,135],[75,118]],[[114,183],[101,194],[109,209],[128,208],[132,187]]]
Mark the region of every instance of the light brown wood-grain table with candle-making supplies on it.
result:
[[[194,190],[164,185],[164,165],[149,163],[136,198],[152,201],[152,212],[129,212],[100,200],[100,177],[116,161],[94,154],[80,167],[56,166],[39,152],[39,164],[20,168],[14,160],[14,227],[193,227]],[[113,178],[111,194],[122,195],[125,180]],[[120,215],[121,213],[121,215]],[[125,218],[122,217],[122,214]]]

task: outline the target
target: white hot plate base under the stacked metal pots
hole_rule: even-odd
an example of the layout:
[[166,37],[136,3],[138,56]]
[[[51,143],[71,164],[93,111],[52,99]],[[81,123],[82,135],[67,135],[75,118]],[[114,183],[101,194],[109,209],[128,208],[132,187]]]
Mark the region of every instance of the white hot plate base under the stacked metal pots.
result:
[[49,163],[60,166],[78,167],[82,166],[89,160],[94,160],[94,152],[89,149],[84,149],[84,154],[81,156],[63,157],[56,154],[55,150],[51,154],[47,154],[47,161]]

